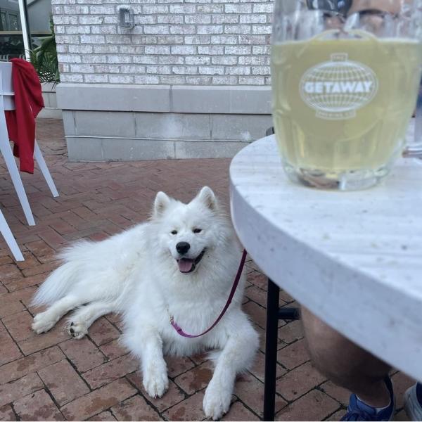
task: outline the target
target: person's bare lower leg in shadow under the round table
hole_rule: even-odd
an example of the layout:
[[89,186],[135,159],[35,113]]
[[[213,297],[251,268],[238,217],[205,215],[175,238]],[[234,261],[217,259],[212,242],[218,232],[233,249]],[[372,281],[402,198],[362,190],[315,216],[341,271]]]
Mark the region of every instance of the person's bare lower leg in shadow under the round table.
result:
[[388,364],[347,340],[304,307],[302,321],[316,369],[369,406],[388,406],[390,392],[384,381],[390,371]]

